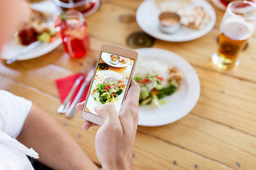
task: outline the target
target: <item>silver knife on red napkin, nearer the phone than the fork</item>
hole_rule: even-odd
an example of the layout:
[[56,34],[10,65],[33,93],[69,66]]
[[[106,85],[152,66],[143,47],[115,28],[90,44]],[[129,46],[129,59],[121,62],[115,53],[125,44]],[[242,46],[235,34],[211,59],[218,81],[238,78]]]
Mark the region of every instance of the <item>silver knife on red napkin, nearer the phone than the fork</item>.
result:
[[76,105],[78,104],[78,102],[82,98],[82,95],[84,94],[84,91],[85,91],[86,87],[88,86],[88,84],[92,80],[93,71],[94,71],[94,67],[92,67],[92,69],[87,74],[85,80],[83,81],[82,86],[80,87],[80,90],[78,91],[76,98],[73,100],[72,104],[70,105],[70,107],[68,108],[68,110],[66,112],[66,117],[72,118],[75,115]]

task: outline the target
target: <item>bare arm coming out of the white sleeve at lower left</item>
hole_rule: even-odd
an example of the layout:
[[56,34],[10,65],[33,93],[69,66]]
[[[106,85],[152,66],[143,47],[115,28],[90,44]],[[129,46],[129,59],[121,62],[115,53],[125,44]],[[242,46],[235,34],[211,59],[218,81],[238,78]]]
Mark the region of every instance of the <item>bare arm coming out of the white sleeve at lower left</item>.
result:
[[39,161],[53,169],[98,169],[67,130],[36,105],[32,105],[17,140],[36,150]]

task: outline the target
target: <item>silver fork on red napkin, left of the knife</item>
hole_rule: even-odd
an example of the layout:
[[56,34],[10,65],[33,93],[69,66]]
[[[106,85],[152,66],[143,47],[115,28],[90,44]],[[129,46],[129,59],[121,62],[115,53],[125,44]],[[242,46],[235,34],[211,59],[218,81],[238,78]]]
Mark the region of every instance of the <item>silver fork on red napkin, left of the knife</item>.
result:
[[92,59],[87,58],[87,60],[83,63],[83,67],[81,70],[81,75],[77,78],[75,83],[72,85],[71,90],[69,91],[67,97],[62,102],[62,104],[58,107],[57,112],[60,114],[66,113],[67,109],[69,108],[71,104],[71,99],[75,93],[75,90],[77,89],[77,86],[81,83],[81,81],[84,79],[85,75],[89,72],[92,65]]

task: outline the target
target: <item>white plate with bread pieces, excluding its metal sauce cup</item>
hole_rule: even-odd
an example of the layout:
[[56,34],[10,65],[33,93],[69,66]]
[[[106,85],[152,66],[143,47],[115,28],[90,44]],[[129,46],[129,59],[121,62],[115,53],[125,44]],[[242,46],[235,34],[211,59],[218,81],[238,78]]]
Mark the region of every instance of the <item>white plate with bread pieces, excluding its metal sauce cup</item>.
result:
[[[159,15],[172,12],[180,16],[181,26],[173,34],[159,30]],[[144,0],[136,20],[140,28],[157,39],[173,42],[195,40],[212,30],[216,13],[206,0]]]

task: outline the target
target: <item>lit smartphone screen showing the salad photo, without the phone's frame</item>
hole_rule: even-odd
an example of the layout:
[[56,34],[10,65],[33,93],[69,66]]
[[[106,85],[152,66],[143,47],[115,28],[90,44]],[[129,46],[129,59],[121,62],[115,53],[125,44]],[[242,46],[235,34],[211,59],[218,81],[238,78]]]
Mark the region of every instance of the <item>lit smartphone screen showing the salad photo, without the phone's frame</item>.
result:
[[98,115],[94,108],[109,102],[119,112],[134,66],[134,59],[102,51],[92,86],[85,104],[85,112]]

